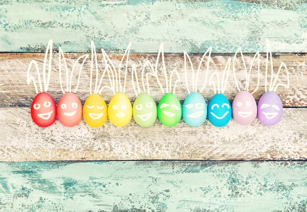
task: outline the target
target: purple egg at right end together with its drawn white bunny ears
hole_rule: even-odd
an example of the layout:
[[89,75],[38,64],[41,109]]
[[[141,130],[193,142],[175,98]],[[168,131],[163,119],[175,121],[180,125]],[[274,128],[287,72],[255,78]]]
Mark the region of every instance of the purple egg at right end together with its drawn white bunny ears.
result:
[[[271,81],[269,91],[267,89],[267,81],[268,81],[268,68],[269,68],[269,57],[271,63]],[[278,83],[276,86],[276,82],[278,79],[278,75],[280,73],[281,68],[284,67],[287,73],[287,84]],[[265,77],[265,91],[266,93],[262,95],[258,102],[258,119],[259,121],[267,126],[276,125],[282,117],[282,102],[278,95],[275,93],[278,86],[283,86],[289,89],[290,80],[289,80],[289,72],[286,64],[281,62],[275,79],[273,81],[273,61],[272,61],[272,52],[270,47],[270,42],[267,40],[267,61],[266,61],[266,77]]]

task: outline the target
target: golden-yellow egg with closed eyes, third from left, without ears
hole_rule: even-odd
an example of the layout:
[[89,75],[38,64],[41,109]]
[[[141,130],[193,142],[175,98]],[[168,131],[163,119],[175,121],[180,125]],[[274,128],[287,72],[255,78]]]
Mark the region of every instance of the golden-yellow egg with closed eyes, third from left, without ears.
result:
[[104,125],[107,119],[107,106],[104,100],[96,93],[88,97],[83,106],[83,119],[90,127],[98,128]]

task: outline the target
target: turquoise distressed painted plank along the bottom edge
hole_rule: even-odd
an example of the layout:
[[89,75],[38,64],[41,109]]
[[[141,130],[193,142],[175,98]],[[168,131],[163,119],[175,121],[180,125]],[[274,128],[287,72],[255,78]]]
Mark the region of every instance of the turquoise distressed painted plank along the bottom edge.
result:
[[0,163],[2,211],[306,211],[306,162]]

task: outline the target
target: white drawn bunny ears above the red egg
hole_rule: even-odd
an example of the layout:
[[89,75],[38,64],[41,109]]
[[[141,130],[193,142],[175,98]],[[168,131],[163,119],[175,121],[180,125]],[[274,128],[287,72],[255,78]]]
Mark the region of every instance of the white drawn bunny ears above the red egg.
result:
[[[43,87],[44,87],[45,92],[47,92],[47,90],[48,90],[50,74],[51,74],[52,45],[53,45],[53,41],[49,40],[48,45],[47,45],[47,49],[46,49],[46,53],[45,53],[45,58],[43,60],[43,66],[42,66]],[[49,59],[48,59],[48,56],[49,56]],[[46,78],[47,61],[48,61],[48,74],[47,74],[47,78]],[[36,91],[36,93],[38,93],[35,78],[32,75],[30,75],[30,72],[31,72],[33,65],[35,66],[35,69],[36,69],[36,75],[37,75],[37,79],[38,79],[39,89],[40,89],[40,92],[42,92],[43,89],[42,89],[42,84],[41,84],[40,72],[39,72],[38,64],[35,60],[32,60],[29,64],[29,67],[28,67],[28,70],[27,70],[27,83],[29,85],[30,82],[33,81],[35,91]]]

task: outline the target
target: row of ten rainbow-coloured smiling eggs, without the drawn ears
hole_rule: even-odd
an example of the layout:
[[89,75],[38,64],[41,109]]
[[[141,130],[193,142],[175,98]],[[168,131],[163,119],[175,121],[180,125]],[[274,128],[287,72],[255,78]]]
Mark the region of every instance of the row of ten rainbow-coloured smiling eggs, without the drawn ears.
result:
[[277,124],[282,116],[282,103],[275,92],[266,92],[259,100],[248,91],[240,91],[234,98],[232,107],[228,99],[217,93],[210,100],[208,107],[203,96],[192,92],[184,101],[183,107],[173,93],[166,93],[159,102],[158,108],[147,93],[141,93],[133,107],[124,93],[117,93],[107,106],[98,95],[92,94],[82,104],[74,93],[65,93],[58,103],[46,92],[38,93],[31,106],[31,116],[40,127],[52,125],[56,117],[61,124],[74,127],[83,119],[93,128],[101,127],[109,117],[111,123],[122,127],[128,124],[131,117],[142,127],[151,126],[157,119],[165,126],[175,126],[181,118],[190,126],[202,125],[206,118],[216,127],[228,124],[233,116],[241,125],[251,124],[258,114],[258,119],[265,125]]

